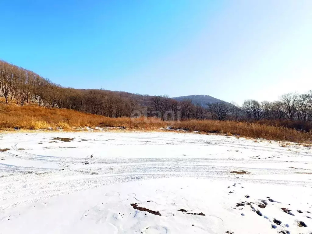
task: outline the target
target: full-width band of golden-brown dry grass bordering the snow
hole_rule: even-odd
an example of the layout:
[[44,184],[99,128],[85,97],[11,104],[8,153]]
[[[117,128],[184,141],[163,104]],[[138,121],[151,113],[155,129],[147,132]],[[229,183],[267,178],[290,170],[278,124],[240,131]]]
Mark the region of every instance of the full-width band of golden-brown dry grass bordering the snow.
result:
[[4,129],[46,129],[62,128],[67,131],[73,127],[125,127],[138,130],[158,130],[171,126],[173,129],[199,131],[201,133],[227,134],[236,137],[263,138],[269,140],[312,143],[312,132],[302,132],[281,126],[258,123],[217,120],[185,120],[175,123],[153,121],[143,118],[132,121],[130,118],[108,118],[81,113],[75,110],[41,108],[37,106],[17,107],[0,104],[0,130]]

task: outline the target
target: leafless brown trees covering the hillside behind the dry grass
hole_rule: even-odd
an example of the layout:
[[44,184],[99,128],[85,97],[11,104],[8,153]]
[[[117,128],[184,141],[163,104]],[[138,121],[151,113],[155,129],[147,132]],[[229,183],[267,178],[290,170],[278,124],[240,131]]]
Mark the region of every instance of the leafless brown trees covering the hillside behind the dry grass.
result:
[[312,90],[305,94],[289,93],[274,102],[245,100],[241,106],[219,101],[206,106],[191,100],[177,101],[149,96],[62,87],[33,71],[0,61],[0,96],[15,100],[18,106],[37,102],[39,106],[58,107],[107,117],[133,117],[139,111],[161,119],[217,120],[290,120],[312,121]]

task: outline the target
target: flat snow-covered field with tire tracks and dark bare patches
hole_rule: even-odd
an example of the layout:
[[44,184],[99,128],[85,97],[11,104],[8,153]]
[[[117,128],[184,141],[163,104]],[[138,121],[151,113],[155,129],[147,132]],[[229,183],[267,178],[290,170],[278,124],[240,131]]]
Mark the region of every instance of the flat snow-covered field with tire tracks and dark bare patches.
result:
[[0,233],[309,234],[312,148],[282,144],[173,132],[0,134]]

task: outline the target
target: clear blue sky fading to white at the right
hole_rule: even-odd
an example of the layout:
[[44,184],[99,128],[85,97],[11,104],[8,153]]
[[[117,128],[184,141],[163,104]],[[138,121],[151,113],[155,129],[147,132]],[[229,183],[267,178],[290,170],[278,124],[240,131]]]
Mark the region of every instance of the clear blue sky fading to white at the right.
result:
[[0,59],[74,88],[226,101],[312,89],[311,0],[10,0]]

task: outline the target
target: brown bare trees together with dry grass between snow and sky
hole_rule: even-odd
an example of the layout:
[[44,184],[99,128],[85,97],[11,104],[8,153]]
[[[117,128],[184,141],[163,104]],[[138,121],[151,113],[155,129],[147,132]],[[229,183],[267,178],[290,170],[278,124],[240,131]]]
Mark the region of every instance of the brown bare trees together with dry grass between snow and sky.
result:
[[[133,121],[130,117],[138,118]],[[142,130],[170,126],[202,133],[309,144],[312,90],[301,95],[285,94],[275,102],[245,100],[239,107],[220,101],[207,103],[205,108],[191,100],[177,101],[166,95],[64,88],[0,60],[0,128],[70,131],[81,126]]]

